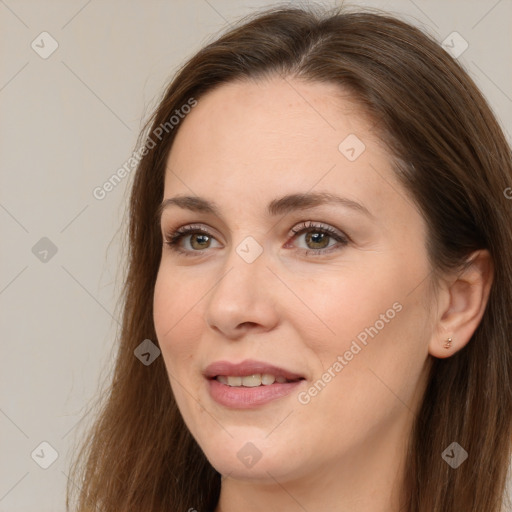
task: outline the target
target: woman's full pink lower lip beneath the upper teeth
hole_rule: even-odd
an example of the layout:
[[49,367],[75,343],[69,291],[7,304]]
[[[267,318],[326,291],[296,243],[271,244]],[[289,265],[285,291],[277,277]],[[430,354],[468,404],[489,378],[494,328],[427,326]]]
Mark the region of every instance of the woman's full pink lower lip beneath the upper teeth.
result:
[[249,388],[244,386],[228,386],[227,384],[222,384],[217,379],[209,379],[209,391],[210,396],[217,403],[225,407],[250,409],[289,395],[302,382],[302,380],[298,380]]

